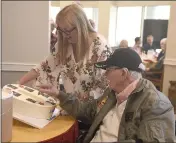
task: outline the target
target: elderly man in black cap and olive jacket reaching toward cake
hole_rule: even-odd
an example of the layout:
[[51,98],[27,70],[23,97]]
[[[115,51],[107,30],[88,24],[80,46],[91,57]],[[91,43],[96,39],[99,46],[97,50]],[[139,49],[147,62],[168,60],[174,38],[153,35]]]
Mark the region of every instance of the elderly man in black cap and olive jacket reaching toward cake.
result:
[[58,98],[70,115],[91,123],[83,143],[174,142],[173,106],[150,81],[142,78],[144,66],[134,50],[117,49],[95,66],[106,70],[109,83],[97,100],[80,102],[74,95],[52,86],[40,87],[41,92]]

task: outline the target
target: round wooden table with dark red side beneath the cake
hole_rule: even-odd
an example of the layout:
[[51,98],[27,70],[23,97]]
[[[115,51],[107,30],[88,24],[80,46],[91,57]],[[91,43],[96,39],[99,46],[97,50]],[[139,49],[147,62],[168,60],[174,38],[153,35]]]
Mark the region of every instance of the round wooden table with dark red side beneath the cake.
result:
[[43,129],[37,129],[13,120],[11,142],[75,142],[78,136],[77,122],[70,116],[58,116]]

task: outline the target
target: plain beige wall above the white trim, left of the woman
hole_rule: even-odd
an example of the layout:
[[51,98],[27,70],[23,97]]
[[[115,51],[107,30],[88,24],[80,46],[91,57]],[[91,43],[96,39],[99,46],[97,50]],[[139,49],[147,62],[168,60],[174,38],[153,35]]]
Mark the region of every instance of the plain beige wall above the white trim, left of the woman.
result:
[[39,63],[49,52],[48,30],[48,1],[3,1],[3,69]]

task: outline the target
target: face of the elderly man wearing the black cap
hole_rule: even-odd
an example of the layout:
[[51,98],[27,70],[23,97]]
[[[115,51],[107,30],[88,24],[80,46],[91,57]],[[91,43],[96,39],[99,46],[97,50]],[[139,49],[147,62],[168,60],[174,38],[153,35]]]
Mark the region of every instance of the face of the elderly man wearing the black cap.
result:
[[118,69],[117,67],[110,67],[106,70],[105,75],[111,89],[116,90],[118,86],[121,87],[123,82],[122,74],[122,69]]

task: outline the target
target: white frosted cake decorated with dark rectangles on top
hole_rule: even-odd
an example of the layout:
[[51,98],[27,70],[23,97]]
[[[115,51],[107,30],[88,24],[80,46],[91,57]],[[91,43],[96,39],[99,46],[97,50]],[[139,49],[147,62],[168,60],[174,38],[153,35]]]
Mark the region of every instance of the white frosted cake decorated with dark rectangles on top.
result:
[[52,97],[23,85],[8,84],[2,94],[13,95],[13,112],[32,118],[50,119],[56,107]]

